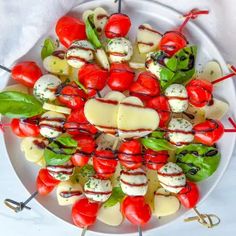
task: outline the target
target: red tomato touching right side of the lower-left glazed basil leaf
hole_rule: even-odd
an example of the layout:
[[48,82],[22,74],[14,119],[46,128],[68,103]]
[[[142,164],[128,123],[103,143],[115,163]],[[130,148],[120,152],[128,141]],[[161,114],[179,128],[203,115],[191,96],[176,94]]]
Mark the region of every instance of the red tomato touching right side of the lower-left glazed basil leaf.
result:
[[74,166],[84,166],[88,163],[91,153],[95,150],[96,143],[91,135],[79,134],[74,137],[78,142],[78,151],[71,157]]

